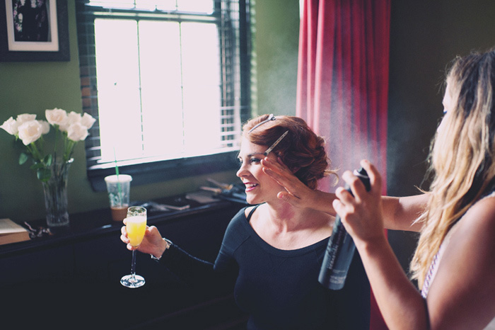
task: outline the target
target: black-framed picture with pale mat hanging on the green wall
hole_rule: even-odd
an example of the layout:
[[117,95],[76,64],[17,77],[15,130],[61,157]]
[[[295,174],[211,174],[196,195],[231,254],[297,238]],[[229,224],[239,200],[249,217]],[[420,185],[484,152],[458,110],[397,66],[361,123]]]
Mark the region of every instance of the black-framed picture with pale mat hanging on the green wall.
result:
[[67,0],[0,1],[0,61],[69,61],[68,23]]

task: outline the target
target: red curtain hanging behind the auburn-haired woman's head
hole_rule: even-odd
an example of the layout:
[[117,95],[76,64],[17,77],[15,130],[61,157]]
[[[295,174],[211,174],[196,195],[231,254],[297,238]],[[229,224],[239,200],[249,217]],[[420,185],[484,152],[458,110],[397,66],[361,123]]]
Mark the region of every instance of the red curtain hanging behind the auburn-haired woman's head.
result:
[[[339,173],[369,159],[386,193],[390,0],[305,0],[296,115],[327,138]],[[330,191],[330,181],[320,189]],[[387,329],[372,295],[370,329]]]

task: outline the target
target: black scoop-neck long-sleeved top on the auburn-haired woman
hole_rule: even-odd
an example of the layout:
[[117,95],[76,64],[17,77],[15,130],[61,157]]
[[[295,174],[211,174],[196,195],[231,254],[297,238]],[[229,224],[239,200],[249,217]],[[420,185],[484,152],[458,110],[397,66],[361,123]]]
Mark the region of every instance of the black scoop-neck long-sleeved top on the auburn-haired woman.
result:
[[[250,315],[248,329],[369,329],[370,287],[359,254],[354,254],[342,290],[324,288],[318,274],[328,239],[301,249],[276,249],[250,226],[254,210],[245,217],[243,208],[233,217],[213,265],[182,251],[182,257],[203,269],[203,279],[210,276],[206,268],[216,280],[235,268],[235,301]],[[181,250],[173,246],[169,251],[161,263],[170,271],[185,276],[198,271],[192,265],[175,268],[184,263],[170,263],[170,255]]]

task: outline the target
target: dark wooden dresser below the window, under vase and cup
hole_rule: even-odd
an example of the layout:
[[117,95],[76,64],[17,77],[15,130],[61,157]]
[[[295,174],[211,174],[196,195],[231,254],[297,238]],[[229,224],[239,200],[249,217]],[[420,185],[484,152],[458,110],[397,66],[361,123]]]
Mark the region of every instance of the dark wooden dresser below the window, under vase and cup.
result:
[[[228,222],[244,204],[187,202],[187,210],[148,212],[148,224],[190,254],[214,261]],[[44,220],[30,225],[46,226]],[[245,329],[247,317],[231,288],[199,294],[148,255],[136,258],[146,284],[120,285],[131,264],[121,227],[110,209],[94,210],[70,215],[70,227],[51,236],[0,246],[2,329]]]

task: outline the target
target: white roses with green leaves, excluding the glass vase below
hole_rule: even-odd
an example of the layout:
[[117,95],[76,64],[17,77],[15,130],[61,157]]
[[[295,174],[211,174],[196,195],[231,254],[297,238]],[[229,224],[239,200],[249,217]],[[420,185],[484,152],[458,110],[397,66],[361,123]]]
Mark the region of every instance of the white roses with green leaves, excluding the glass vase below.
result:
[[[50,180],[50,167],[54,161],[66,163],[71,159],[77,142],[86,139],[88,130],[95,123],[95,118],[88,113],[67,113],[59,108],[45,110],[45,117],[47,120],[37,120],[36,115],[25,113],[18,115],[16,119],[8,118],[0,126],[8,134],[14,135],[16,140],[23,142],[25,152],[21,152],[19,164],[33,159],[31,169],[37,172],[37,178],[42,182]],[[46,152],[44,135],[50,132],[50,125],[55,131],[54,147],[52,152]]]

